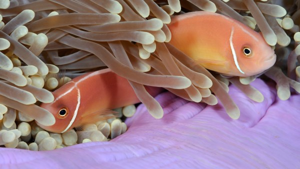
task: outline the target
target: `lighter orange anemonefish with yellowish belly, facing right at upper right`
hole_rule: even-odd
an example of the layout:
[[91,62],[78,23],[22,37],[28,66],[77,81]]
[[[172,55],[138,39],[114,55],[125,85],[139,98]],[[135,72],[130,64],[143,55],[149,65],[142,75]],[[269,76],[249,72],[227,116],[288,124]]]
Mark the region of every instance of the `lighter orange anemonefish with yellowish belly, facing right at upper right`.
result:
[[206,11],[172,17],[170,43],[195,64],[225,75],[250,76],[271,67],[274,50],[262,35],[230,17]]

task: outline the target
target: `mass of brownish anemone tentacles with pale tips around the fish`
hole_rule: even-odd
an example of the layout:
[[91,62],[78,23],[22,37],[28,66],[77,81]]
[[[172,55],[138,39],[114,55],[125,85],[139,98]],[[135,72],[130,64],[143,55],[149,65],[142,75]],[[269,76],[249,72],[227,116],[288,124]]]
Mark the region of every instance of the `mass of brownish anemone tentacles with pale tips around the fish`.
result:
[[[196,10],[218,12],[261,31],[275,49],[275,65],[249,77],[224,77],[191,64],[167,43],[166,24],[173,14]],[[54,123],[38,103],[53,101],[50,91],[69,77],[104,67],[127,78],[156,118],[162,108],[144,85],[210,105],[218,98],[232,118],[239,109],[227,94],[230,83],[261,102],[263,95],[250,82],[267,76],[276,82],[278,97],[288,99],[290,92],[300,92],[299,17],[300,0],[1,0],[0,145],[26,147],[18,138],[30,140],[33,135],[26,132],[32,125],[22,121]],[[68,77],[54,78],[59,69]],[[107,128],[102,131],[107,135]],[[87,133],[77,134],[79,142],[88,141],[82,136]],[[57,145],[58,138],[46,137]]]

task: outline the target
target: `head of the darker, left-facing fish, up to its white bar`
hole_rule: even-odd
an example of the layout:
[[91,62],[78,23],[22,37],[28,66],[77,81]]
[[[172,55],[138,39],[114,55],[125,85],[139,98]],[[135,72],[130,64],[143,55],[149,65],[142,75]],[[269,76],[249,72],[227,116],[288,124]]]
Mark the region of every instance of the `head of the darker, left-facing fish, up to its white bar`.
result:
[[62,133],[72,128],[78,111],[78,88],[70,81],[53,91],[54,101],[41,103],[40,107],[48,110],[55,117],[53,125],[44,126],[37,123],[41,128]]

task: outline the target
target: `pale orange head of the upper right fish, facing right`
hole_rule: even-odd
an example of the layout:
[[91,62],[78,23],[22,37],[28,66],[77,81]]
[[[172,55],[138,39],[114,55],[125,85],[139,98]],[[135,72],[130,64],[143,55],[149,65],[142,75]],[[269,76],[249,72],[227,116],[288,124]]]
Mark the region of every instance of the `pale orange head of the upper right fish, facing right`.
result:
[[[276,54],[263,36],[246,27],[236,28],[233,35],[233,45],[236,53],[236,63],[233,63],[238,76],[251,76],[259,74],[274,65]],[[236,33],[236,34],[235,34]],[[235,38],[235,39],[234,39]]]

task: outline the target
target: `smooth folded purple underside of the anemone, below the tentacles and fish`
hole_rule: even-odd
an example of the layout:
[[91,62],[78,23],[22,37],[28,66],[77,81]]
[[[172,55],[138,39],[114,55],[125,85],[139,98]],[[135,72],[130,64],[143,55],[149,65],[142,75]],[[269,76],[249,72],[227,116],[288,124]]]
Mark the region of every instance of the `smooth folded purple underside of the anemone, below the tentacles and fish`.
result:
[[240,108],[230,119],[220,104],[186,101],[170,92],[156,96],[164,110],[154,119],[141,104],[129,128],[109,142],[51,151],[0,148],[0,168],[297,168],[300,166],[300,94],[288,100],[256,79],[255,102],[231,85]]

